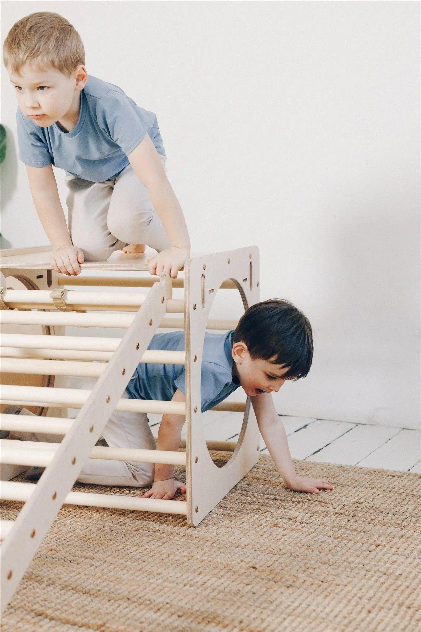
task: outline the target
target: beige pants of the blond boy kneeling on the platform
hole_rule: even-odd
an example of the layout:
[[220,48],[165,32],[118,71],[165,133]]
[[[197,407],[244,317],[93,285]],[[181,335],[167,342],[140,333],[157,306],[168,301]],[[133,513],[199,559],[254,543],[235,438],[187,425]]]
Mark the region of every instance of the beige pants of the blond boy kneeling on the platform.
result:
[[[165,156],[160,159],[165,168]],[[148,190],[131,164],[105,182],[76,176],[67,176],[65,182],[71,240],[83,250],[85,261],[105,261],[128,243],[145,243],[157,252],[170,246]]]

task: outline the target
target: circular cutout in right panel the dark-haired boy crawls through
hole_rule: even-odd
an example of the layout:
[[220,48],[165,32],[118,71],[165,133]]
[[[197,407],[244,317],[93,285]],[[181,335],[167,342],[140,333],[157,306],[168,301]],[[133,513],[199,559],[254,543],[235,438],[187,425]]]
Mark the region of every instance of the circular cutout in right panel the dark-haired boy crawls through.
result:
[[[212,324],[218,324],[218,329],[206,329],[202,353],[201,392],[202,397],[215,398],[218,391],[218,399],[220,396],[223,396],[223,399],[217,405],[225,406],[225,408],[228,408],[233,401],[246,404],[246,393],[235,375],[235,363],[232,357],[234,329],[245,310],[239,289],[219,288],[215,293],[208,316],[208,326],[211,321],[216,320],[218,322]],[[229,327],[229,329],[220,329],[220,327]],[[230,462],[244,422],[245,414],[242,411],[208,410],[202,413],[203,432],[208,451],[218,468]],[[245,427],[244,425],[244,430]],[[225,454],[218,458],[215,451],[222,451]],[[228,460],[227,456],[229,456]]]

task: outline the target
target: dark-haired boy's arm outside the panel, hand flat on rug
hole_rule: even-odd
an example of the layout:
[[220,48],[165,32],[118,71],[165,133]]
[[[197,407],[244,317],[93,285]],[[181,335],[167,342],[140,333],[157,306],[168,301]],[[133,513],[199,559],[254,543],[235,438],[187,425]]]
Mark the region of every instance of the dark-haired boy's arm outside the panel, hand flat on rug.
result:
[[256,395],[251,398],[251,403],[260,434],[285,485],[296,492],[312,492],[313,494],[318,494],[319,489],[333,489],[327,480],[297,475],[288,447],[287,433],[276,412],[271,394]]

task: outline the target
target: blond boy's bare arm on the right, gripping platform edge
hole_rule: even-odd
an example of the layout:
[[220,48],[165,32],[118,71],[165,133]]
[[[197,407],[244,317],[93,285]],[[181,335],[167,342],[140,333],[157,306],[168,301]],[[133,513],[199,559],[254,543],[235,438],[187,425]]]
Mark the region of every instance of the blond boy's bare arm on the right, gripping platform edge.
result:
[[[148,134],[127,158],[134,173],[148,190],[153,207],[170,240],[170,248],[163,250],[157,257],[150,260],[150,272],[151,274],[168,272],[175,278],[190,255],[190,238],[181,206]],[[161,266],[163,269],[160,269]],[[173,270],[172,274],[171,270]]]

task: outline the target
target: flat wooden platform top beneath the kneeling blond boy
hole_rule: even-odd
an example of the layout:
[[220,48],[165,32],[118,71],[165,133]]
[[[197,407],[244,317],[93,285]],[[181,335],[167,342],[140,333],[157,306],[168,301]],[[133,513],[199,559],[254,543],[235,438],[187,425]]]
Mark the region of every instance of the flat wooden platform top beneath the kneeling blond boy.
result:
[[[51,246],[35,246],[34,248],[11,248],[0,250],[0,268],[27,268],[51,270]],[[127,255],[117,250],[107,261],[88,261],[81,264],[82,270],[143,270],[148,272],[148,258],[154,257],[156,250],[146,248],[141,255]],[[192,253],[196,257],[199,253]],[[201,253],[203,254],[203,253]]]

